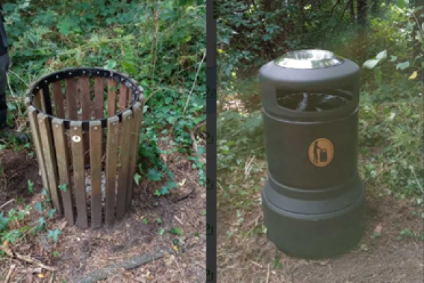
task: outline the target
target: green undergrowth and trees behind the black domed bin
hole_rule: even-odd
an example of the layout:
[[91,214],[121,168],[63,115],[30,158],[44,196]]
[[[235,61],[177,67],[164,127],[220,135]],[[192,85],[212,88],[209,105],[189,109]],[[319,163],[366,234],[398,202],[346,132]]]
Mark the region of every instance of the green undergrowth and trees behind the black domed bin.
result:
[[[325,49],[362,67],[361,178],[380,195],[414,198],[422,203],[424,14],[414,15],[422,7],[414,7],[412,1],[368,1],[370,6],[379,4],[368,11],[367,40],[358,52],[355,41],[360,25],[346,12],[348,6],[338,5],[339,1],[319,1],[301,7],[305,8],[301,13],[298,2],[286,2],[254,1],[253,5],[235,1],[223,5],[218,22],[221,200],[239,200],[240,188],[249,187],[249,173],[266,176],[259,67],[288,51]],[[267,11],[270,3],[279,8]],[[235,184],[235,172],[246,173],[247,178]],[[256,194],[252,186],[251,190],[242,190],[243,194]],[[251,201],[245,197],[245,203]]]

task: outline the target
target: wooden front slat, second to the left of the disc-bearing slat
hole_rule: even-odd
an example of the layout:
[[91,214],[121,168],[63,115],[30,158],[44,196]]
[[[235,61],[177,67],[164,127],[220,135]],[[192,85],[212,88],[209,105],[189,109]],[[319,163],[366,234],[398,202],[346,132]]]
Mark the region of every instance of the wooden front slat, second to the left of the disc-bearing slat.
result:
[[59,214],[62,214],[61,200],[59,195],[58,175],[56,156],[54,154],[54,144],[52,139],[52,126],[47,115],[38,114],[38,126],[40,127],[40,136],[42,143],[42,152],[45,156],[45,165],[47,169],[47,178],[49,180],[48,190],[52,197],[53,205]]

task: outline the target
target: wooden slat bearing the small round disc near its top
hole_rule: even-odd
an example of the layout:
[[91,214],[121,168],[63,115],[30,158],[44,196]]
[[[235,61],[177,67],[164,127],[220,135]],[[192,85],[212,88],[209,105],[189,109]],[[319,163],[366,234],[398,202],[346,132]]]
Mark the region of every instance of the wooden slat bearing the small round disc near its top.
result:
[[71,122],[73,185],[76,194],[76,225],[88,228],[86,199],[86,170],[84,166],[84,141],[82,122]]

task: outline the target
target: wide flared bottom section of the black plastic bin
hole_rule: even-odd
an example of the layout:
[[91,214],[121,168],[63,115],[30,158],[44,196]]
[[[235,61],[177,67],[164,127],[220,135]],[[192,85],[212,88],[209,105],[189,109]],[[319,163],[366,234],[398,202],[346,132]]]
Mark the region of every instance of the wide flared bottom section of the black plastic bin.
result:
[[[288,212],[269,201],[266,197],[269,190],[273,188],[266,182],[261,195],[267,236],[284,253],[299,258],[329,258],[350,250],[362,238],[365,230],[365,194],[362,183],[360,187],[353,188],[361,193],[351,205],[324,214]],[[293,199],[293,202],[296,201]],[[331,199],[317,202],[323,202],[324,207],[328,207]]]

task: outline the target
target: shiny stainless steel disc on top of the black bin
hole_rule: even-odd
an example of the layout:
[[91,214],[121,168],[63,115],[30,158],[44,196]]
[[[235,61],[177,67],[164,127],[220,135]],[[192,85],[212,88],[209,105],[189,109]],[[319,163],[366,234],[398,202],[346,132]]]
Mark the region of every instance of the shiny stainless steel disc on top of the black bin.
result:
[[345,60],[325,50],[298,50],[285,53],[274,63],[287,69],[324,69],[343,64]]

